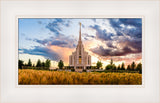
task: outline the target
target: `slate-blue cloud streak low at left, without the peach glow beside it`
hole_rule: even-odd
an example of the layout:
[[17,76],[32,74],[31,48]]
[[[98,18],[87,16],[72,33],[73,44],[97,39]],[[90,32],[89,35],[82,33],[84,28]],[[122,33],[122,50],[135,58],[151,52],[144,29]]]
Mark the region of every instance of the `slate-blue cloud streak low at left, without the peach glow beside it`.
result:
[[55,61],[59,61],[61,59],[60,55],[58,55],[56,52],[46,47],[40,47],[40,46],[35,46],[34,49],[19,49],[19,53],[30,54],[30,55],[40,55],[40,56],[44,56],[46,59],[51,59]]

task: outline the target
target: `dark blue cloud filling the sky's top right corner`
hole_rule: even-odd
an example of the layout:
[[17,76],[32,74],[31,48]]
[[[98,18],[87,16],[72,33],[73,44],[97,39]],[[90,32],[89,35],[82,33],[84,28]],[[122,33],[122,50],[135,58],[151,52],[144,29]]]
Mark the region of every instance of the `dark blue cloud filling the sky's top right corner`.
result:
[[[122,33],[129,35],[133,38],[142,38],[142,19],[141,18],[127,18],[127,19],[109,19],[110,25],[120,36]],[[121,25],[124,25],[122,27]],[[133,28],[127,28],[132,26]]]

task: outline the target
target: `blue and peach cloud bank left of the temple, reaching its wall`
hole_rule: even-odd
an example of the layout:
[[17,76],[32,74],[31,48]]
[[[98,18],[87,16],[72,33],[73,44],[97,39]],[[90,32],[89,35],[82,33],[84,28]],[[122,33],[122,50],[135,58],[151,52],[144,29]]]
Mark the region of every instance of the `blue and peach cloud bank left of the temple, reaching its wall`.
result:
[[40,55],[46,59],[57,62],[63,60],[65,63],[68,63],[69,55],[71,55],[73,51],[75,51],[74,48],[51,45],[46,47],[34,46],[33,49],[19,49],[19,54]]

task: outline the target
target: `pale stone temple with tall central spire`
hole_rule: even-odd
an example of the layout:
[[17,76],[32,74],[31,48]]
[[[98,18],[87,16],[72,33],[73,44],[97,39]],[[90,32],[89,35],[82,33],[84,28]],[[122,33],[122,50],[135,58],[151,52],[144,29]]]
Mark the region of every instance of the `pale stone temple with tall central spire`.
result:
[[84,46],[81,40],[81,23],[79,30],[79,41],[76,47],[76,51],[72,52],[72,55],[69,56],[69,66],[77,70],[86,70],[91,67],[91,56],[84,50]]

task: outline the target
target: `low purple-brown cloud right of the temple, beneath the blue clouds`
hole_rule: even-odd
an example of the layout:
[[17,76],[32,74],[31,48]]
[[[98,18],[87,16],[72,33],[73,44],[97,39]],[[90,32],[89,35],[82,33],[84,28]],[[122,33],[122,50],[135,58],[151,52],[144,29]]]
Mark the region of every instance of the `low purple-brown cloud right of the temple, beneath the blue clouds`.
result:
[[107,43],[109,48],[105,49],[102,46],[99,46],[90,50],[99,56],[125,56],[127,54],[142,52],[141,41],[125,41],[124,43],[125,46],[122,49],[113,46],[111,43]]

